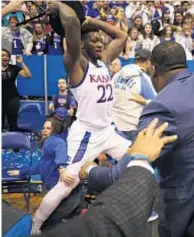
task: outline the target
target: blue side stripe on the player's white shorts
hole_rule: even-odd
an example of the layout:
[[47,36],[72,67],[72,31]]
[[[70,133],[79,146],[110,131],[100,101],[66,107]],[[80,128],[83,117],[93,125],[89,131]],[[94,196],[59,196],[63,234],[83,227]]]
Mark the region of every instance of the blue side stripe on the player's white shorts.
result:
[[84,137],[80,143],[79,149],[73,159],[73,163],[81,161],[82,158],[84,157],[84,154],[85,154],[87,147],[88,147],[90,137],[91,137],[91,132],[86,132],[84,134]]

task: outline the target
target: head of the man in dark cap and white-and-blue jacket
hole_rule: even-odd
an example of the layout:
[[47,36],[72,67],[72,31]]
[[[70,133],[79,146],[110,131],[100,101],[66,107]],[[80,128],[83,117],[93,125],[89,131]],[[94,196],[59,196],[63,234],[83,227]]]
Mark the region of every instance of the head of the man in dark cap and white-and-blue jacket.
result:
[[152,53],[147,49],[139,49],[135,53],[135,64],[139,65],[149,76],[153,75],[153,65],[151,63]]

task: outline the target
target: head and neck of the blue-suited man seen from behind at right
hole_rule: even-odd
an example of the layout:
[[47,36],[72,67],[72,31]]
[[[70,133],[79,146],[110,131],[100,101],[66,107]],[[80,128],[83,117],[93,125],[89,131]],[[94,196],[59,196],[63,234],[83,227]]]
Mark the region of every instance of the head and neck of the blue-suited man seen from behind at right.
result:
[[151,62],[154,66],[152,83],[157,92],[162,90],[177,72],[187,68],[184,48],[171,41],[160,43],[153,49]]

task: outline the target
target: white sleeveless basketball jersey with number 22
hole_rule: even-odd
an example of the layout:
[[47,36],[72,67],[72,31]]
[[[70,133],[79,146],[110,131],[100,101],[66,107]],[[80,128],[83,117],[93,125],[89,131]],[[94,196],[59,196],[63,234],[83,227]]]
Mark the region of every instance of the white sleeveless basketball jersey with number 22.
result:
[[111,124],[113,81],[107,66],[88,62],[84,78],[70,87],[77,103],[77,119],[89,129],[101,129]]

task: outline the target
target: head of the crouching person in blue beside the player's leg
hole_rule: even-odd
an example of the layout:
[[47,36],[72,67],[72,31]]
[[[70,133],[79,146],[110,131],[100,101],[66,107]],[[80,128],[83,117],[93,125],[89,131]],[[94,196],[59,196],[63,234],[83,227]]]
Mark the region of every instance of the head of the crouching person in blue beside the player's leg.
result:
[[42,142],[53,134],[60,134],[63,131],[63,125],[55,118],[48,118],[42,129]]

